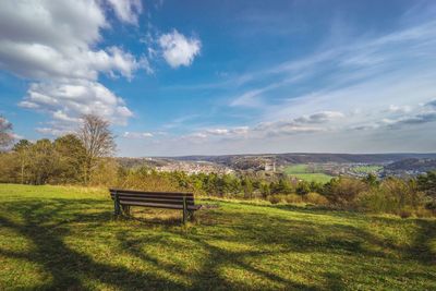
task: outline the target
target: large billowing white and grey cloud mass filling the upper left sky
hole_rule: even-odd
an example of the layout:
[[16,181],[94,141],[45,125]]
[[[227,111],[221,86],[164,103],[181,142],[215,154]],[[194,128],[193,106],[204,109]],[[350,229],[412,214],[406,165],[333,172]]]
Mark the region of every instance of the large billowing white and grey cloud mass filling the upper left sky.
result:
[[[137,23],[140,0],[107,4],[121,21]],[[83,113],[97,113],[116,124],[125,124],[133,116],[98,76],[130,80],[135,71],[152,69],[145,57],[120,47],[97,49],[101,29],[110,28],[106,12],[100,0],[0,2],[0,69],[32,81],[20,106],[52,117],[51,131],[47,126],[38,132],[68,132]]]

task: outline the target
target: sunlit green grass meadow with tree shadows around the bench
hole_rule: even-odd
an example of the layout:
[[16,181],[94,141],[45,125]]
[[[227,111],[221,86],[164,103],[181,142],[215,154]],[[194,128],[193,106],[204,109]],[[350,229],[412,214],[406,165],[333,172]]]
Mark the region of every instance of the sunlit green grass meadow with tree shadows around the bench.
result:
[[206,203],[113,220],[104,190],[0,184],[0,290],[436,290],[435,220]]

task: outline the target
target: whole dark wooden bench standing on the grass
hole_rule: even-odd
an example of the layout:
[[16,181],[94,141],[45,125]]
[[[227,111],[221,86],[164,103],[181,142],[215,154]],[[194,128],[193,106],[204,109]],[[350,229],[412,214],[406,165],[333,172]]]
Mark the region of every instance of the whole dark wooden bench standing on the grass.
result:
[[180,192],[144,192],[136,190],[109,189],[113,199],[116,216],[130,216],[131,206],[181,209],[183,223],[194,217],[194,211],[202,206],[195,205],[194,194]]

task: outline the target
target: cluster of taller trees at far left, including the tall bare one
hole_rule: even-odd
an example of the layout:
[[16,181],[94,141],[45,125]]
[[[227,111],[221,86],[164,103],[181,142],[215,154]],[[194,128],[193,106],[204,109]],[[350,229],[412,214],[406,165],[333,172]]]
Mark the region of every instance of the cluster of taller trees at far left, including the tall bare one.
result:
[[0,182],[22,184],[90,184],[114,153],[109,122],[98,116],[82,117],[75,133],[50,141],[21,140],[12,144],[12,124],[0,118]]

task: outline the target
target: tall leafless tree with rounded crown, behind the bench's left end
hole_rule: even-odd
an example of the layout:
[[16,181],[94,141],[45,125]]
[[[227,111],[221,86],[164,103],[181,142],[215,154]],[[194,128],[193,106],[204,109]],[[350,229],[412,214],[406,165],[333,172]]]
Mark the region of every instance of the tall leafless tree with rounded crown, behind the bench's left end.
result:
[[116,143],[107,120],[95,114],[82,116],[82,120],[83,124],[78,130],[77,137],[86,150],[84,180],[85,183],[88,183],[98,159],[113,155]]

